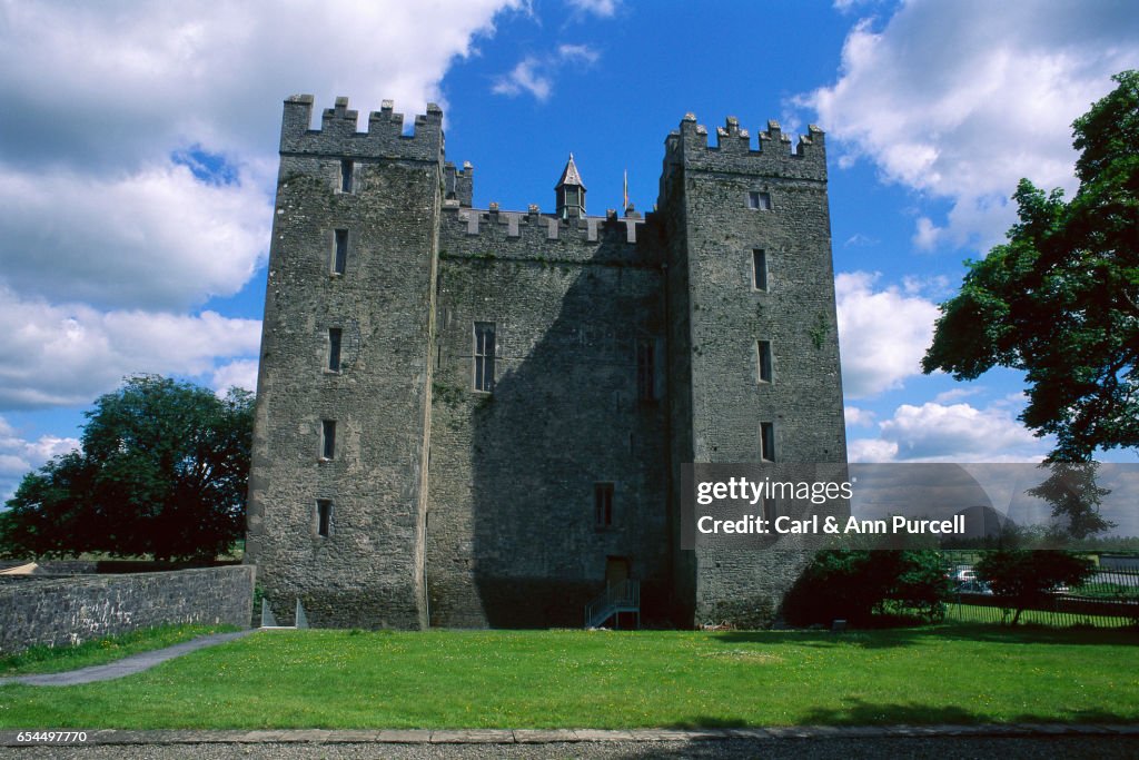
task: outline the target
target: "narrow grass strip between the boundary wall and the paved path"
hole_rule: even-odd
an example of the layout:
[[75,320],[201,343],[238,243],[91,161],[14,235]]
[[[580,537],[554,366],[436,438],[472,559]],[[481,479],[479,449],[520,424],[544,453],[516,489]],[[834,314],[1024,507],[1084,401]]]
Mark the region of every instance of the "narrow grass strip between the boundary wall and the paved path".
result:
[[191,638],[235,631],[233,626],[163,626],[145,628],[123,636],[107,636],[77,646],[33,646],[17,654],[0,655],[0,677],[28,673],[56,673],[115,660]]

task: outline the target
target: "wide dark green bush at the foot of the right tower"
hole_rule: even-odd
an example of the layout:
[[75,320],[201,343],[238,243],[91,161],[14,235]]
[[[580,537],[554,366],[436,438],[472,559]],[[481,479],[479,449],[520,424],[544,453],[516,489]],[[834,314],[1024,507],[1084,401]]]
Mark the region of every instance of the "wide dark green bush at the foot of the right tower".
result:
[[866,626],[875,613],[887,611],[940,620],[950,591],[935,551],[827,549],[795,581],[782,612],[793,626],[836,619]]

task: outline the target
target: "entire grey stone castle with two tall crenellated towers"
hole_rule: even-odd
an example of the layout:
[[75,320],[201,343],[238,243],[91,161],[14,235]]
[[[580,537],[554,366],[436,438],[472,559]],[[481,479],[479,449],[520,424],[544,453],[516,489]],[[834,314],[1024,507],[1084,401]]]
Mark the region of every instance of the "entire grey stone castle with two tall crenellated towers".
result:
[[285,101],[249,484],[278,619],[582,626],[607,588],[770,616],[803,551],[681,550],[680,467],[845,461],[822,132],[688,114],[656,210],[589,215],[572,155],[552,213],[474,209],[437,106],[412,134],[312,107]]

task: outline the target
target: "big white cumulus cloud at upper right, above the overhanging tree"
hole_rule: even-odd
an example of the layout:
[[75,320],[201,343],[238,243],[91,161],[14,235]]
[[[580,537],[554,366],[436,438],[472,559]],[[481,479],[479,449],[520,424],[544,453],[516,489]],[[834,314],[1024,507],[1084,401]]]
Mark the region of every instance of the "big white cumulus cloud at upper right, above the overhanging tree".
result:
[[[839,6],[851,9],[854,3]],[[842,163],[952,209],[917,220],[915,245],[986,250],[1015,220],[1022,177],[1072,190],[1072,121],[1139,66],[1139,6],[1126,2],[913,1],[846,38],[838,81],[798,98],[818,112]]]

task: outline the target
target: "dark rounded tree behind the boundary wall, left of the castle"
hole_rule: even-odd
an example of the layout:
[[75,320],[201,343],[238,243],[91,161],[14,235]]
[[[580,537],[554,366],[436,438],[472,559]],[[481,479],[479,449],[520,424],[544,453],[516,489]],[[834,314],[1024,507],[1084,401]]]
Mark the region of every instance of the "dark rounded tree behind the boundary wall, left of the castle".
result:
[[241,537],[251,393],[145,375],[85,415],[82,451],[26,475],[8,501],[9,554],[212,558]]

